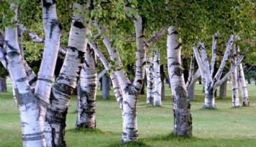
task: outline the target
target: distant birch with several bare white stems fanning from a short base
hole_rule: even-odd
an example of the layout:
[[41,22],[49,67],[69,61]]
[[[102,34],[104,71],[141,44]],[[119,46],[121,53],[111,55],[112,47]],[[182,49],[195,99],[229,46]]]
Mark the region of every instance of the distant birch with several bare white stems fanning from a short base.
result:
[[[205,104],[203,105],[203,108],[206,108],[206,109],[216,108],[215,98],[214,98],[214,92],[216,90],[216,87],[220,86],[225,81],[225,79],[231,74],[231,72],[233,72],[237,68],[237,65],[242,61],[242,58],[243,58],[243,56],[241,55],[237,63],[235,63],[234,66],[232,66],[232,68],[229,70],[229,72],[222,79],[220,79],[231,50],[231,45],[233,45],[233,42],[234,42],[234,35],[231,35],[229,37],[229,42],[226,44],[226,50],[224,53],[224,57],[221,60],[221,65],[219,66],[219,70],[216,72],[216,75],[213,77],[213,69],[214,69],[213,67],[214,67],[215,58],[216,58],[217,38],[218,36],[216,36],[216,34],[213,35],[211,66],[208,62],[206,48],[203,45],[203,43],[198,42],[198,48],[193,47],[195,58],[196,58],[196,61],[198,62],[200,74],[203,77],[202,79],[205,79],[205,81],[203,81],[203,84],[205,86]],[[200,50],[200,55],[198,53],[198,49]]]

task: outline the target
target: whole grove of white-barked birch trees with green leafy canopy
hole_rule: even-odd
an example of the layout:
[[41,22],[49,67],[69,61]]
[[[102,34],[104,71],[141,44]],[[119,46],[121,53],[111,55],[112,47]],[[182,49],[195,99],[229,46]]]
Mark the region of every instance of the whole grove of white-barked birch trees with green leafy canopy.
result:
[[[97,127],[97,64],[107,70],[120,107],[121,143],[138,142],[137,102],[144,82],[145,103],[162,105],[160,64],[167,67],[174,117],[170,133],[175,135],[193,136],[187,89],[199,76],[206,109],[216,109],[214,91],[231,73],[232,81],[238,81],[237,69],[246,89],[242,63],[255,52],[253,1],[5,0],[0,6],[0,59],[12,79],[23,146],[66,146],[66,115],[76,87],[74,128]],[[38,72],[27,62],[29,48],[40,54]],[[185,84],[182,58],[190,55],[196,63],[191,60]],[[228,59],[231,68],[221,76]],[[125,68],[129,63],[135,68],[133,81]],[[215,66],[219,70],[214,72]],[[238,87],[232,89],[232,106],[239,107]],[[246,91],[242,104],[250,106]]]

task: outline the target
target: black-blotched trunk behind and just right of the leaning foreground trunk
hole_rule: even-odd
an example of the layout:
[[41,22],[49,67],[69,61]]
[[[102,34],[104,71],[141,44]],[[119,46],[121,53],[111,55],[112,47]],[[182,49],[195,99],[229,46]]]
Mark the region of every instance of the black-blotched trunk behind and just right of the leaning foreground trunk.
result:
[[77,95],[76,129],[96,128],[95,100],[97,92],[97,70],[94,51],[87,46],[84,65],[81,69],[81,86]]

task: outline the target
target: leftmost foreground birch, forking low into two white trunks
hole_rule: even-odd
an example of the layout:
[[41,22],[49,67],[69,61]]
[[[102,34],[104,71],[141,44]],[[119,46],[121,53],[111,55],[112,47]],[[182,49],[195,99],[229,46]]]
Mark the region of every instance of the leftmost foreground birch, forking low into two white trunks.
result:
[[43,66],[40,66],[34,93],[34,88],[30,85],[35,84],[35,73],[27,66],[19,50],[17,24],[15,24],[17,22],[17,8],[17,3],[10,4],[10,11],[14,12],[14,17],[12,17],[14,24],[12,26],[9,24],[5,28],[4,49],[7,54],[4,63],[6,63],[6,68],[14,85],[14,97],[22,124],[23,146],[45,146],[45,108],[50,97],[50,82],[51,77],[53,77],[56,55],[58,55],[61,26],[56,16],[55,2],[43,1],[45,50]]

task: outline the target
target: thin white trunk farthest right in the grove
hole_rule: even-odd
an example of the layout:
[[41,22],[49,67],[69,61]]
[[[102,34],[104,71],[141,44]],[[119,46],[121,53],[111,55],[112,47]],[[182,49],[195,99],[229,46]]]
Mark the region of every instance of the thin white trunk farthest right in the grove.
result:
[[249,97],[248,97],[248,91],[247,91],[247,85],[244,78],[244,70],[242,67],[242,63],[239,64],[239,80],[242,87],[242,106],[250,106]]

